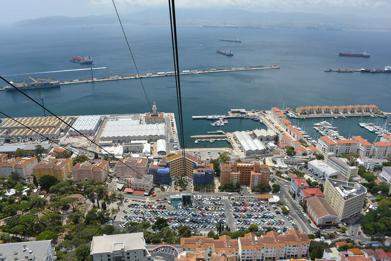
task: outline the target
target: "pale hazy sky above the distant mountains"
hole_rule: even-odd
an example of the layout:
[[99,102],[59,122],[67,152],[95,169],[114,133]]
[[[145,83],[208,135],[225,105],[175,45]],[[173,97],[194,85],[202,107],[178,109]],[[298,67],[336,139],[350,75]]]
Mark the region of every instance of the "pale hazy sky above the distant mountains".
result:
[[[120,13],[167,7],[168,0],[115,0]],[[391,0],[176,0],[176,7],[239,8],[249,11],[305,12],[390,17]],[[47,16],[88,16],[114,12],[111,0],[1,0],[0,23]]]

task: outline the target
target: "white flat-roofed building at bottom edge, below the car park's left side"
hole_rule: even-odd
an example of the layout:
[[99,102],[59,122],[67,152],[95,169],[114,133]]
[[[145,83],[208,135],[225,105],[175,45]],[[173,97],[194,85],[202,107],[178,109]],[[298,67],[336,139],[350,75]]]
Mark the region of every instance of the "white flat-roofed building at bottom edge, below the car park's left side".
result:
[[93,237],[90,255],[93,261],[151,261],[143,232]]

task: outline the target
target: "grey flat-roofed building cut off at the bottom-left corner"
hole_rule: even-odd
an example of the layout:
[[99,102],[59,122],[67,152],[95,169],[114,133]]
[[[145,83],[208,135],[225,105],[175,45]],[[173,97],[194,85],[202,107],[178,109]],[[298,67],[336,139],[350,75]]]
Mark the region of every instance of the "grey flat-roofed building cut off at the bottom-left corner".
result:
[[53,261],[57,260],[51,240],[24,241],[0,244],[0,261]]

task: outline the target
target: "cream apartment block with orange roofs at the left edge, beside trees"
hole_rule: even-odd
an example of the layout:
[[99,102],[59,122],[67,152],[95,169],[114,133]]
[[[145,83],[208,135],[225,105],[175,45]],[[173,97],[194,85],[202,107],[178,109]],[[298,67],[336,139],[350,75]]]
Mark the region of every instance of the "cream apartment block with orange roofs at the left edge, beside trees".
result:
[[[7,159],[3,157],[3,159]],[[0,163],[0,176],[8,177],[11,172],[17,172],[22,180],[31,178],[33,175],[33,167],[38,163],[37,158],[18,157]]]

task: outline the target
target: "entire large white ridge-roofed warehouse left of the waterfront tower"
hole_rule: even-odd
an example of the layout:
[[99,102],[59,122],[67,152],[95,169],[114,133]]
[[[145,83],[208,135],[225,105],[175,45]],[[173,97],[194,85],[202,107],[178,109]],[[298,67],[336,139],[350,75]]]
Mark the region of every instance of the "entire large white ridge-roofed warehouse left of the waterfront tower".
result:
[[109,119],[100,138],[101,141],[157,141],[165,137],[165,124],[141,124],[140,119]]

